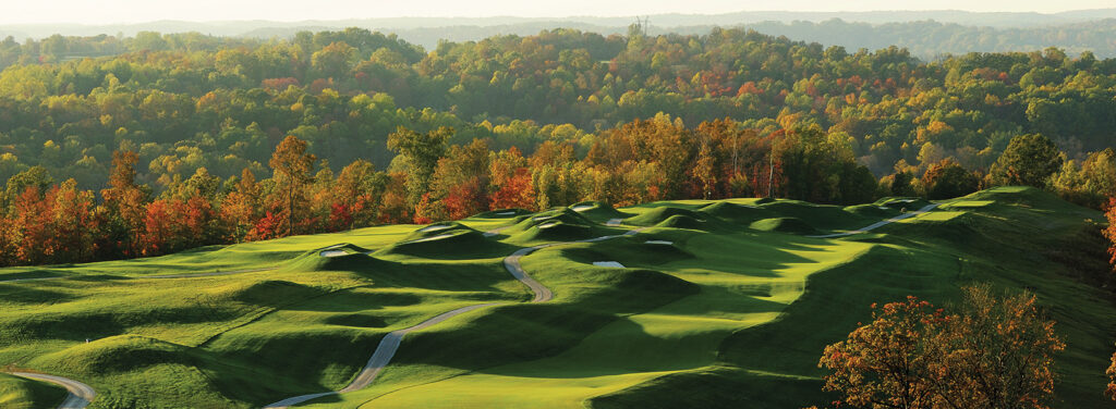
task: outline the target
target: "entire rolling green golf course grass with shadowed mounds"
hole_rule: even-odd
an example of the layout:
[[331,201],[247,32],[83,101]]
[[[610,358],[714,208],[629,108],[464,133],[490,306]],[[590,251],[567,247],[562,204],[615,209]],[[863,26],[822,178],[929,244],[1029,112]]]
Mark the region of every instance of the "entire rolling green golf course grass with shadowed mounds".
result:
[[[2,269],[0,366],[81,380],[97,389],[93,408],[252,408],[339,389],[386,333],[496,303],[407,334],[369,387],[300,407],[797,408],[834,398],[817,359],[868,304],[907,294],[942,304],[992,282],[1031,289],[1059,322],[1069,348],[1056,407],[1106,405],[1116,304],[1090,281],[1107,269],[1090,222],[1099,214],[1017,187],[940,204],[840,238],[810,235],[926,203],[588,202]],[[620,235],[603,225],[612,218],[644,228]],[[565,243],[604,235],[615,237]],[[549,302],[527,303],[531,291],[504,269],[526,245],[545,246],[519,262]],[[593,265],[604,261],[625,267]],[[2,282],[36,276],[62,279]],[[57,392],[0,376],[0,407]]]

